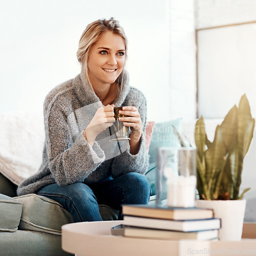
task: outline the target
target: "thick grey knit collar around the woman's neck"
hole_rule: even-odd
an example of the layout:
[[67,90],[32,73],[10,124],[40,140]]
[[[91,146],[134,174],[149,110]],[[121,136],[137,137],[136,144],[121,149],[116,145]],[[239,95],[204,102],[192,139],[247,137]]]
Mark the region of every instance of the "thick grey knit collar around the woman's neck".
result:
[[[95,94],[92,87],[90,86],[87,78],[85,78],[82,74],[78,74],[75,77],[75,91],[79,101],[83,105],[99,102],[101,106],[103,106],[99,97]],[[119,90],[113,104],[115,104],[115,106],[121,106],[125,98],[127,97],[127,94],[129,93],[129,91],[130,91],[129,78],[128,76],[125,76],[123,87]]]

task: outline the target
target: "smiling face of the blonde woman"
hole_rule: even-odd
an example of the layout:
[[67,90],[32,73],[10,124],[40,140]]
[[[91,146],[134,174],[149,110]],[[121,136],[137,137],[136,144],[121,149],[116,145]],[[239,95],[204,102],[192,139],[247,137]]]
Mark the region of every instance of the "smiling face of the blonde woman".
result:
[[125,63],[123,38],[111,31],[102,33],[92,46],[87,66],[93,88],[115,82]]

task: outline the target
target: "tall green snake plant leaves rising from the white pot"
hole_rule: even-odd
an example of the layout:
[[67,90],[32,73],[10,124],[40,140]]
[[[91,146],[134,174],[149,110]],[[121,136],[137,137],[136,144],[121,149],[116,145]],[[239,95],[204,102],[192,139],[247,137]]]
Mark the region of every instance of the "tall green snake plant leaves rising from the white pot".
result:
[[195,127],[197,146],[197,189],[200,199],[239,200],[243,160],[253,137],[255,120],[246,95],[241,97],[218,125],[213,142],[207,139],[201,116]]

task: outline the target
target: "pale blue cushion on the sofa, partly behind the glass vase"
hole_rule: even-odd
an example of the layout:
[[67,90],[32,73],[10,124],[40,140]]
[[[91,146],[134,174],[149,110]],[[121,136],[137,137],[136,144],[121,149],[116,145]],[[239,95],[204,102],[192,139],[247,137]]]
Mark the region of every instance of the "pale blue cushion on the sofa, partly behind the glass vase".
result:
[[181,134],[182,118],[170,120],[166,122],[156,123],[151,138],[150,150],[150,164],[147,168],[146,178],[151,185],[152,195],[156,195],[156,177],[157,177],[157,148],[158,147],[173,147],[181,146],[175,129]]

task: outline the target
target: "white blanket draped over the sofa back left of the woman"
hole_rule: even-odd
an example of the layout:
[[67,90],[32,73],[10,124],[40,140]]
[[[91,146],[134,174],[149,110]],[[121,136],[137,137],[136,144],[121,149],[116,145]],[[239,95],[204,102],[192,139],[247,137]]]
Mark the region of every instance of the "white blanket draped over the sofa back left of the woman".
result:
[[15,184],[37,172],[45,132],[42,113],[6,112],[0,116],[0,173]]

